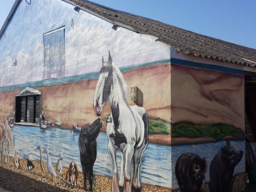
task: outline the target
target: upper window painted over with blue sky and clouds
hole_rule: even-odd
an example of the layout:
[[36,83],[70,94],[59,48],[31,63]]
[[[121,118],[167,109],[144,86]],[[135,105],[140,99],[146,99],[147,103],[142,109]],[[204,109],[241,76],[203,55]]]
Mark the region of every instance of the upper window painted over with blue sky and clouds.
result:
[[65,27],[44,34],[44,79],[65,76]]

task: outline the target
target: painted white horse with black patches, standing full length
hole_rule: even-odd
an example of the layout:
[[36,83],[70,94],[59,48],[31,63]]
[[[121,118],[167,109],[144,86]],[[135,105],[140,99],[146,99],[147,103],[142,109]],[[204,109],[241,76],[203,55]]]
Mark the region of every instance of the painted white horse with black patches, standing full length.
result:
[[[106,127],[106,134],[109,138],[109,153],[113,168],[112,192],[119,192],[119,185],[123,187],[123,192],[131,191],[132,184],[136,190],[141,188],[139,167],[148,142],[148,118],[144,108],[128,105],[127,95],[127,86],[122,73],[114,65],[109,52],[108,61],[105,62],[102,57],[102,68],[93,106],[97,116],[101,115],[108,101],[111,106],[111,117]],[[118,150],[121,152],[119,181],[116,163]]]

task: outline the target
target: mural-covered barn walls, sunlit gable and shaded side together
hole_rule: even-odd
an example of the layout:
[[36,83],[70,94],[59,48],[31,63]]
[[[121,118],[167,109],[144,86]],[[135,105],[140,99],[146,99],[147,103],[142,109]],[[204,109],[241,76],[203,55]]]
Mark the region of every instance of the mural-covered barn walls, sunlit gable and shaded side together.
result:
[[93,191],[245,188],[249,67],[178,52],[88,2],[16,3],[0,38],[2,161]]

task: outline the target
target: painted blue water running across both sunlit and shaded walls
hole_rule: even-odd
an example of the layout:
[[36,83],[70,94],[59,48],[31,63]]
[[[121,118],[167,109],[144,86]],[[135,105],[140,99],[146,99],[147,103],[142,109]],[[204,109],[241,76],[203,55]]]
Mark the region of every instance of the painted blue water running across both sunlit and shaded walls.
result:
[[[14,147],[21,158],[26,159],[29,155],[31,160],[39,161],[39,150],[36,149],[41,145],[42,149],[49,148],[49,155],[52,163],[56,165],[59,158],[59,152],[62,151],[63,166],[68,167],[71,161],[75,161],[81,171],[78,137],[79,134],[73,133],[70,130],[49,128],[41,130],[34,126],[15,125],[12,128]],[[165,186],[169,188],[179,188],[175,173],[175,163],[180,155],[184,153],[196,153],[201,158],[207,160],[207,171],[205,181],[209,181],[209,165],[210,161],[220,148],[226,144],[226,141],[199,143],[189,145],[177,145],[172,147],[173,156],[171,156],[171,147],[166,145],[149,143],[144,151],[141,162],[141,182]],[[231,144],[237,149],[244,152],[244,141],[231,141]],[[46,153],[42,153],[45,162],[47,162]],[[173,159],[172,159],[173,158]],[[172,160],[173,163],[172,164]],[[120,164],[120,154],[117,153],[117,162]],[[241,162],[236,166],[234,175],[245,172],[245,153]],[[100,132],[97,138],[97,159],[94,164],[94,174],[112,177],[112,164],[108,152],[108,137],[106,133]],[[172,183],[171,183],[172,182]]]

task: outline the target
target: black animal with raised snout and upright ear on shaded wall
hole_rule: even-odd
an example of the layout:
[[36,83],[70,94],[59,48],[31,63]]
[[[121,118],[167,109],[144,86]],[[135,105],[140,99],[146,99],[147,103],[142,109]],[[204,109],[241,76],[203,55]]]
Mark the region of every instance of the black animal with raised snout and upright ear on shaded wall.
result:
[[241,161],[243,151],[237,151],[227,141],[224,147],[215,155],[210,163],[210,185],[211,192],[232,191],[232,176],[234,167]]

